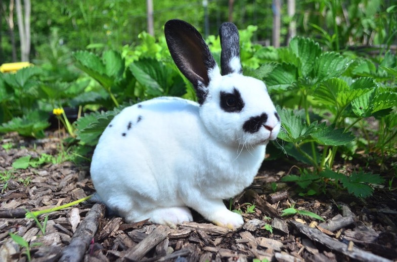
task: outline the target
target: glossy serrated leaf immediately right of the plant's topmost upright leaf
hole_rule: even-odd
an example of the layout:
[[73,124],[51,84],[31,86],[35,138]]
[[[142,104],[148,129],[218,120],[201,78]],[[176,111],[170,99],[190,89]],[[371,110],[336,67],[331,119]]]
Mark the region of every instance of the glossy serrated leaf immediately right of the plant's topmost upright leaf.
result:
[[340,76],[349,66],[349,59],[335,52],[326,52],[316,58],[315,77],[324,80]]

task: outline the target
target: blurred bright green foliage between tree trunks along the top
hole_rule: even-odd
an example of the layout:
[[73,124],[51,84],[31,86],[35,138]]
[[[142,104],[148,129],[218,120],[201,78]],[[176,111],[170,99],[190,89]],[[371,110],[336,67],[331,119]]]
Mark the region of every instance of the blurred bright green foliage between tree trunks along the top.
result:
[[[12,62],[12,34],[19,50],[16,15],[11,32],[7,19],[10,4],[1,1],[0,63]],[[288,28],[296,27],[296,34],[312,37],[332,50],[368,47],[397,42],[395,30],[396,8],[392,0],[303,0],[296,1],[294,15],[288,15],[291,1],[275,0],[193,0],[154,1],[154,36],[163,34],[164,23],[173,18],[189,21],[204,35],[217,35],[224,21],[234,22],[238,28],[257,26],[252,40],[272,45],[274,14],[280,3],[281,46],[288,44]],[[148,31],[146,1],[105,0],[67,1],[43,0],[31,4],[31,52],[34,63],[58,59],[67,63],[70,51],[91,49],[120,49],[134,47]],[[15,12],[15,8],[14,8]],[[207,21],[207,23],[206,23]],[[19,52],[17,52],[19,56]],[[69,54],[69,56],[68,56]],[[16,60],[19,60],[17,57]]]

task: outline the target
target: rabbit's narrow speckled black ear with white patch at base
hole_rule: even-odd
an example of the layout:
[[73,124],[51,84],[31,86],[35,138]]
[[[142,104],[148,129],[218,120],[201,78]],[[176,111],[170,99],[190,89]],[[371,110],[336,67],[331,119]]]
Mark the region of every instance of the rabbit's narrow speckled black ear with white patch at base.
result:
[[237,27],[233,23],[223,23],[219,28],[220,46],[220,68],[222,75],[231,73],[242,74],[240,63],[240,37]]

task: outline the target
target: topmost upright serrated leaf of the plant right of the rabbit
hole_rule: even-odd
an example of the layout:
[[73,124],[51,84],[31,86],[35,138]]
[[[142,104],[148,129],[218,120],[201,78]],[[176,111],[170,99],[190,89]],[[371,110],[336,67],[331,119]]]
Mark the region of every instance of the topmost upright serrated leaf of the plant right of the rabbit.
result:
[[309,76],[313,71],[316,58],[322,52],[319,43],[311,38],[294,37],[289,43],[289,48],[300,60],[299,77]]

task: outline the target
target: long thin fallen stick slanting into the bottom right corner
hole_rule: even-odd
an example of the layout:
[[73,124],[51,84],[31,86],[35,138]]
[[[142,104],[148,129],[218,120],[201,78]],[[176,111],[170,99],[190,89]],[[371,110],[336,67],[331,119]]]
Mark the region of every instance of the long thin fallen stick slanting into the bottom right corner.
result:
[[331,250],[335,250],[337,252],[340,252],[344,255],[347,255],[351,258],[360,260],[360,261],[368,261],[368,262],[392,262],[391,260],[375,255],[373,253],[364,251],[358,247],[353,246],[352,248],[349,248],[347,244],[344,244],[338,240],[335,240],[326,234],[322,233],[320,230],[308,227],[304,224],[301,224],[296,221],[289,221],[288,223],[292,224],[299,232],[302,234],[306,235],[308,238],[310,238],[313,241],[319,242]]

